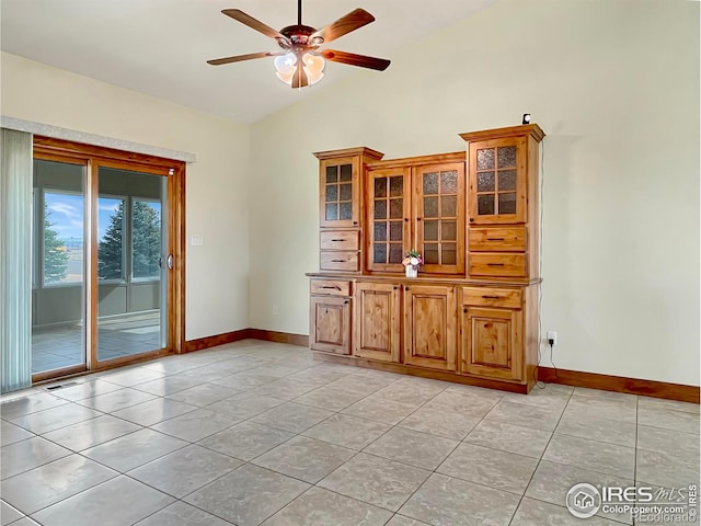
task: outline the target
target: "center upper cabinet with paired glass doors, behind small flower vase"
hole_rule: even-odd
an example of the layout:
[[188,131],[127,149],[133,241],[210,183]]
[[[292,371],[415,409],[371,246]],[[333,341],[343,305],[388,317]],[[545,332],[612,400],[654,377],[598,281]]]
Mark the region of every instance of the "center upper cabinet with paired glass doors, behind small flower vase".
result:
[[402,272],[412,249],[425,274],[464,273],[463,152],[376,161],[367,170],[369,272]]

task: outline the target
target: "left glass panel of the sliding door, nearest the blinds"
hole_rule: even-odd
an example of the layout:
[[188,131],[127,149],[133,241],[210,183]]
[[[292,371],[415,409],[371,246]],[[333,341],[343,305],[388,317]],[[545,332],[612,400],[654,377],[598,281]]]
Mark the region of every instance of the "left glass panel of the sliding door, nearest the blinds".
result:
[[85,366],[85,168],[34,160],[33,374]]

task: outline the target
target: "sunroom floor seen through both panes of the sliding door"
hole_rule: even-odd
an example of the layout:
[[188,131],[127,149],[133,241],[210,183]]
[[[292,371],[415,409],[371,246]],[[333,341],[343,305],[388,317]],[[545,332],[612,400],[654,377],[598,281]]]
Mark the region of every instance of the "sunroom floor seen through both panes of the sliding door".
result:
[[[32,373],[44,373],[85,363],[80,325],[32,330]],[[160,348],[160,313],[100,320],[97,357],[101,361]]]

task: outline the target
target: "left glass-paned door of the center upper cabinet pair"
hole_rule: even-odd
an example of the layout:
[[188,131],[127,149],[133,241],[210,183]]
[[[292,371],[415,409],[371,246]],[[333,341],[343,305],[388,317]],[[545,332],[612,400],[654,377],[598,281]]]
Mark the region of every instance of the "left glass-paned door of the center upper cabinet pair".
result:
[[369,271],[404,272],[402,260],[411,249],[409,178],[407,168],[368,171]]

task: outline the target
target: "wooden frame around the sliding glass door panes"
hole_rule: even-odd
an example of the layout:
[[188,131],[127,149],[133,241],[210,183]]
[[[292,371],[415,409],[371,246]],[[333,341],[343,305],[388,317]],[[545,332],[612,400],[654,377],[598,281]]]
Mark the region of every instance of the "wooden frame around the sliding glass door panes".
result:
[[[50,137],[34,136],[33,159],[59,162],[84,163],[87,170],[85,199],[90,199],[87,207],[90,222],[91,239],[87,251],[87,275],[91,277],[85,283],[85,317],[89,317],[90,330],[87,341],[85,365],[71,366],[32,375],[32,381],[43,381],[49,378],[81,374],[84,371],[104,370],[122,365],[140,362],[165,354],[180,354],[185,350],[185,170],[184,161],[165,159],[157,156],[135,153],[129,151],[84,145]],[[96,362],[96,317],[91,316],[92,309],[97,308],[97,170],[100,167],[116,168],[129,171],[142,171],[168,176],[168,238],[169,252],[174,255],[173,270],[166,274],[168,281],[168,348],[141,353],[135,356],[124,356],[104,364]],[[165,171],[165,174],[163,173]],[[94,363],[93,363],[94,361]]]

